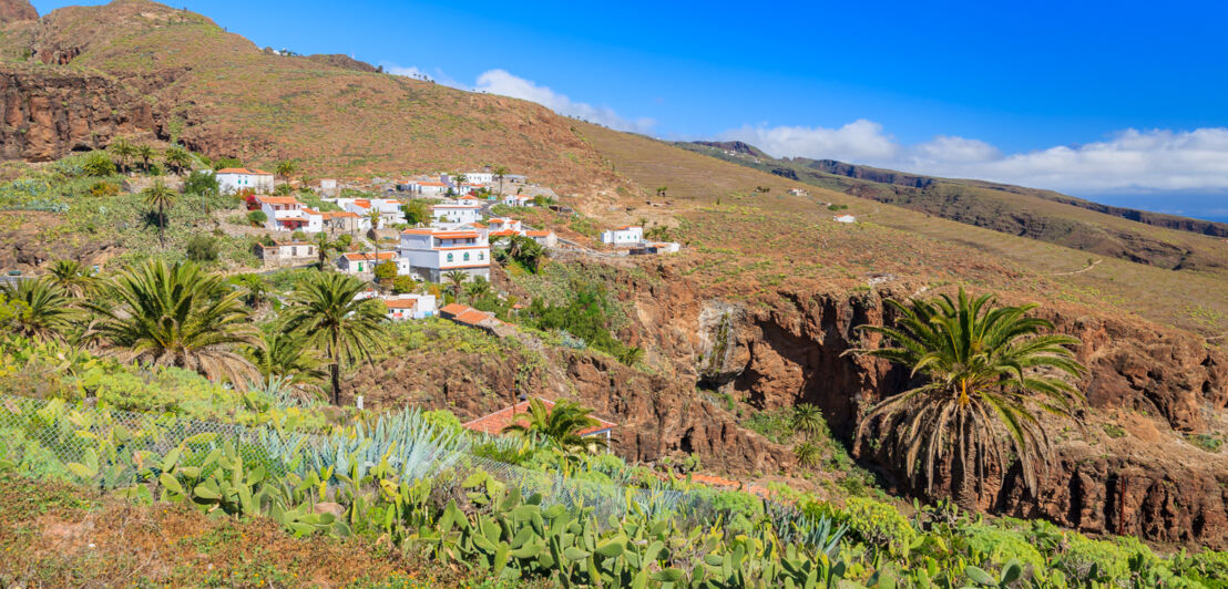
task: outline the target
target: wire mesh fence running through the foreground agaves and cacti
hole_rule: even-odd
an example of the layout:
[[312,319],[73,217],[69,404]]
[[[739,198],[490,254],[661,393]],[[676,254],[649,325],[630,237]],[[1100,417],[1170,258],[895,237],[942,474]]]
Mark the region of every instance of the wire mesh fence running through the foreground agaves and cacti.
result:
[[484,471],[522,496],[540,495],[545,504],[591,509],[598,522],[621,517],[631,506],[655,515],[696,518],[711,515],[712,509],[710,497],[696,492],[587,481],[478,456],[469,452],[467,438],[433,428],[416,411],[381,417],[343,434],[307,434],[0,395],[0,456],[36,474],[81,476],[80,466],[70,468],[75,463],[90,466],[99,486],[117,488],[135,483],[141,460],[134,458],[141,453],[162,456],[190,448],[204,455],[227,443],[244,464],[275,476],[325,466],[362,475],[384,459],[408,480],[441,475],[457,480]]

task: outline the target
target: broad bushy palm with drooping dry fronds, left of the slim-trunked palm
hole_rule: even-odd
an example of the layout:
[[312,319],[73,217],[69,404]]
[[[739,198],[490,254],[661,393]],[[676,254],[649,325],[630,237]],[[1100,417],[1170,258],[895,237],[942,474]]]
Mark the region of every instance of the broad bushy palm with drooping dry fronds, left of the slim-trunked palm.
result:
[[149,260],[108,283],[115,304],[88,303],[95,333],[125,361],[177,366],[244,388],[258,371],[241,350],[259,346],[241,291],[192,263]]

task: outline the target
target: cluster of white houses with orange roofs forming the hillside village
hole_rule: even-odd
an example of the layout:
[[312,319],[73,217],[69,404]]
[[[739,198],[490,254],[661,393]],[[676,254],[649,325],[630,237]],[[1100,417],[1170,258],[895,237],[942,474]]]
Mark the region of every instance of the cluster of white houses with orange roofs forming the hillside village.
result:
[[[495,335],[506,334],[507,324],[495,313],[446,302],[442,288],[435,290],[440,294],[432,294],[429,288],[404,292],[406,288],[394,285],[404,283],[404,279],[414,285],[453,288],[488,283],[491,261],[508,249],[523,250],[526,243],[533,244],[529,247],[534,256],[561,252],[655,255],[682,248],[674,242],[647,239],[645,228],[636,225],[603,231],[602,248],[596,250],[561,239],[548,228],[496,215],[496,207],[505,212],[526,207],[570,212],[555,204],[549,188],[529,184],[524,175],[502,168],[366,182],[325,178],[306,185],[279,182],[275,174],[257,168],[222,168],[215,177],[222,194],[246,199],[248,220],[264,229],[253,253],[266,269],[306,268],[323,260],[338,272],[370,281],[372,287],[361,296],[383,301],[393,321],[440,317]],[[300,194],[309,191],[330,210],[311,206],[293,189]],[[327,236],[323,241],[322,234]],[[343,236],[346,250],[321,255],[322,243]]]

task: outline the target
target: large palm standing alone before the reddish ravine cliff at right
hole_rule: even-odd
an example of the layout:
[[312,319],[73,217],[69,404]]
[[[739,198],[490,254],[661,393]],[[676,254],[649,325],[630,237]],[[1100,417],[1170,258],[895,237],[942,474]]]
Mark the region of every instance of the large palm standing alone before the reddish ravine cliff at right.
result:
[[[1083,395],[1041,369],[1077,377],[1086,371],[1068,346],[1078,339],[1047,334],[1052,324],[1027,317],[1036,304],[993,307],[993,296],[970,298],[963,288],[952,301],[888,301],[898,328],[866,325],[896,347],[851,350],[912,368],[920,384],[874,405],[857,427],[861,442],[877,425],[888,453],[931,492],[935,465],[952,464],[960,476],[959,501],[970,504],[987,468],[1006,472],[1003,436],[1018,456],[1024,483],[1036,491],[1036,474],[1050,461],[1040,411],[1073,417]],[[921,461],[920,468],[917,461]]]

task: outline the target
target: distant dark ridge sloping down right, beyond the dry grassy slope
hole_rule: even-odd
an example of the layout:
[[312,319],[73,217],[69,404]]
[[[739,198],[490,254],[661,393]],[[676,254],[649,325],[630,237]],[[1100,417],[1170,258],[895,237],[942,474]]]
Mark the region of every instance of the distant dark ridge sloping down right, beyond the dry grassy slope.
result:
[[1228,248],[1210,238],[1228,236],[1224,223],[1099,205],[1050,190],[831,160],[777,160],[745,145],[675,145],[791,180],[1097,255],[1172,270],[1228,272]]

